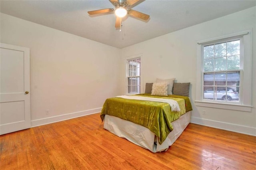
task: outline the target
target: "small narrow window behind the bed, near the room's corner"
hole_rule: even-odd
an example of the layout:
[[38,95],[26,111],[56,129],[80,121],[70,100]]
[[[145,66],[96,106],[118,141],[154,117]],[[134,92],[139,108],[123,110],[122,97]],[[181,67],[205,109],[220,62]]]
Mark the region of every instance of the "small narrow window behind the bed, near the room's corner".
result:
[[141,73],[141,59],[127,60],[127,89],[128,93],[140,93],[140,73]]

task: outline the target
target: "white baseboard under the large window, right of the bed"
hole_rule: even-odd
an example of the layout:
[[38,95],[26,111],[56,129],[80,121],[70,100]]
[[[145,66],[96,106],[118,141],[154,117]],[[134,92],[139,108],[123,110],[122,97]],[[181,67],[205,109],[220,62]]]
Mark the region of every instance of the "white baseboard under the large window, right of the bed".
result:
[[247,127],[220,121],[213,121],[209,119],[201,119],[198,117],[191,117],[191,123],[256,136],[256,128],[254,127]]

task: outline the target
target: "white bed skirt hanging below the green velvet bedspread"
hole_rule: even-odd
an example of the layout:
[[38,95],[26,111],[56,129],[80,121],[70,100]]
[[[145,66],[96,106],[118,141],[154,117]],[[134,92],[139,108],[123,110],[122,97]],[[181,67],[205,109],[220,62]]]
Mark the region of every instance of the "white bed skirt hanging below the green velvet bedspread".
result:
[[157,137],[148,128],[137,125],[130,121],[118,117],[105,115],[104,129],[116,134],[121,138],[126,138],[130,142],[137,144],[151,152],[161,152],[168,150],[175,140],[182,134],[191,120],[191,111],[180,116],[172,122],[173,130],[170,132],[162,144],[159,144]]

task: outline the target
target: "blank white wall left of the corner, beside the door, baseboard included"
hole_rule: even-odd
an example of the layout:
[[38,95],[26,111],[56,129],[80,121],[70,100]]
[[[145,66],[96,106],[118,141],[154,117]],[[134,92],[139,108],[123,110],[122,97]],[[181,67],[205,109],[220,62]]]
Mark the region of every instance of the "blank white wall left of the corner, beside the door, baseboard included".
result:
[[120,94],[120,49],[0,17],[1,42],[30,48],[32,126],[98,113],[106,98]]

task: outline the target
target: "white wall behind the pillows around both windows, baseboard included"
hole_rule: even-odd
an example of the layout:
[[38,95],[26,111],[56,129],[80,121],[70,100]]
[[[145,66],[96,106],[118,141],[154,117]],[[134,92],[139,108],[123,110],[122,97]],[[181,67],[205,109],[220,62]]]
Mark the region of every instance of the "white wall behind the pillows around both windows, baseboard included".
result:
[[[228,16],[204,22],[121,50],[122,75],[124,60],[142,54],[142,83],[152,83],[156,78],[175,77],[177,82],[191,83],[190,99],[193,104],[192,122],[256,135],[256,8],[249,8]],[[196,42],[252,28],[252,112],[232,111],[194,105],[196,93]],[[125,93],[122,79],[122,93]],[[144,89],[143,89],[144,90]],[[206,115],[202,111],[206,111]]]

